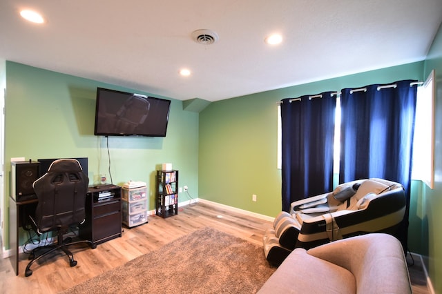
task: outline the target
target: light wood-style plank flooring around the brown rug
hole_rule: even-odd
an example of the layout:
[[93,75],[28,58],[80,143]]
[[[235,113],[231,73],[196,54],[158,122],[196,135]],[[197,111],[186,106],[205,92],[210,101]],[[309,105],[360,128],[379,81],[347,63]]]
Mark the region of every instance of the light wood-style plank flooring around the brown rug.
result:
[[[32,275],[24,277],[28,264],[26,255],[20,256],[18,276],[9,259],[0,259],[0,293],[58,293],[206,226],[262,246],[262,235],[271,228],[271,222],[201,202],[183,206],[173,217],[162,219],[151,215],[148,224],[124,228],[122,237],[99,244],[93,250],[73,248],[78,262],[74,267],[69,266],[66,255],[58,254],[34,264]],[[410,275],[414,293],[430,293],[419,260],[410,268]]]

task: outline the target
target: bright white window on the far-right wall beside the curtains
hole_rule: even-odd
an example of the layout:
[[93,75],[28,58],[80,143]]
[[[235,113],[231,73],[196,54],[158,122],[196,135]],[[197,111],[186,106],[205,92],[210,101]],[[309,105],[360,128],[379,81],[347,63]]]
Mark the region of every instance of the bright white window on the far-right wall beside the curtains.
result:
[[432,70],[417,91],[412,165],[412,179],[430,188],[434,186],[434,77]]

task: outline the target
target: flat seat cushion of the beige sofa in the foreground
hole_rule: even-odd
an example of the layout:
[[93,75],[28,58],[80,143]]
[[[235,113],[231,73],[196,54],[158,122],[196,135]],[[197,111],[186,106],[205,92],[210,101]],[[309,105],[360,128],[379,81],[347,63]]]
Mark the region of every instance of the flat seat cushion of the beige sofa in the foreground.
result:
[[352,273],[296,248],[258,293],[356,293]]

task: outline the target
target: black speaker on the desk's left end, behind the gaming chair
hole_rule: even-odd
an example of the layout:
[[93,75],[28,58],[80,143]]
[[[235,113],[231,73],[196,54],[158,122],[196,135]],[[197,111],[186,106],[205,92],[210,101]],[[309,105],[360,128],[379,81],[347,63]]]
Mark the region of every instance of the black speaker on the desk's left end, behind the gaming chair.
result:
[[32,184],[39,178],[39,162],[11,162],[11,197],[16,202],[36,198]]

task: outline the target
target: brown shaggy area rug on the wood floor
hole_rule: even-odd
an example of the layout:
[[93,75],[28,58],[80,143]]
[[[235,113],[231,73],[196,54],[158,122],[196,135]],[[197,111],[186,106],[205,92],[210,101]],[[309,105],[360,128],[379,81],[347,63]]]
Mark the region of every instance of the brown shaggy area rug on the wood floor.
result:
[[256,293],[274,271],[261,246],[203,228],[64,293]]

